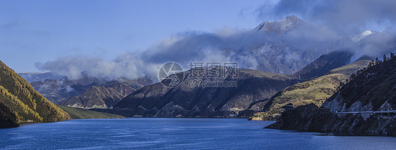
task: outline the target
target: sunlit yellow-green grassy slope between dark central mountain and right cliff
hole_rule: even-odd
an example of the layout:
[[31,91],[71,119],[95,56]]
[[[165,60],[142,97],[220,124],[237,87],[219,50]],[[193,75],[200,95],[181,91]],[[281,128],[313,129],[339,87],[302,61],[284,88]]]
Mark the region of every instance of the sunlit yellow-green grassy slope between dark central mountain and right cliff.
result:
[[284,106],[286,104],[296,108],[314,103],[320,107],[328,97],[337,91],[340,82],[344,82],[349,78],[350,74],[357,70],[367,67],[369,62],[369,60],[361,60],[347,64],[328,71],[324,76],[287,87],[271,97],[272,104],[269,108],[266,108],[268,111],[256,113],[251,119],[274,120],[280,116],[280,113],[285,111]]

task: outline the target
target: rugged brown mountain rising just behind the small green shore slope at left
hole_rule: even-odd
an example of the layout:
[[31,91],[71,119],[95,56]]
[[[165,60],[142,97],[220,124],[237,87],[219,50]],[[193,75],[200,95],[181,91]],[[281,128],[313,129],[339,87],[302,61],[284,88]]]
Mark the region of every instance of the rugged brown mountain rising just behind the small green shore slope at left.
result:
[[70,97],[62,102],[62,105],[83,109],[111,109],[120,100],[135,91],[135,88],[120,82],[115,82],[108,87],[93,86],[80,97]]

